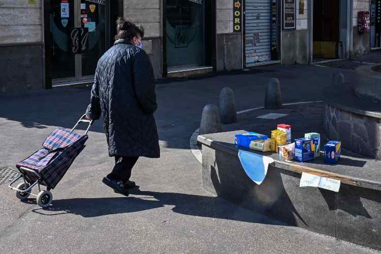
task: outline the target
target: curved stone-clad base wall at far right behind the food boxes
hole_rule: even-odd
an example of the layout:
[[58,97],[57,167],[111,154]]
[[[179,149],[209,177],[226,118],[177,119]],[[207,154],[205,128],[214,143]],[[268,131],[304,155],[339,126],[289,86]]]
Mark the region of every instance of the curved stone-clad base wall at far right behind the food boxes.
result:
[[324,128],[331,140],[343,148],[381,159],[381,119],[354,114],[326,105]]

